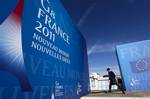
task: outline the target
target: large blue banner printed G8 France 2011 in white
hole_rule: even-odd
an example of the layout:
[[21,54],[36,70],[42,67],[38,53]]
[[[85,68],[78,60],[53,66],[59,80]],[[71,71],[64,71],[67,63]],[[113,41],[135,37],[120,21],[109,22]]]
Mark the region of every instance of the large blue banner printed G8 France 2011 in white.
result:
[[86,41],[59,0],[20,0],[0,25],[0,99],[89,93]]

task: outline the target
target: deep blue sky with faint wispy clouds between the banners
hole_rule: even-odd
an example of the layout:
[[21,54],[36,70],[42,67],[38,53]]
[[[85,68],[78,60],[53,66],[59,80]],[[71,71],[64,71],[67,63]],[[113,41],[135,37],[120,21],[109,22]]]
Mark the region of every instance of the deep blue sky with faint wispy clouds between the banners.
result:
[[90,72],[119,74],[115,47],[150,39],[150,0],[61,0],[85,37]]

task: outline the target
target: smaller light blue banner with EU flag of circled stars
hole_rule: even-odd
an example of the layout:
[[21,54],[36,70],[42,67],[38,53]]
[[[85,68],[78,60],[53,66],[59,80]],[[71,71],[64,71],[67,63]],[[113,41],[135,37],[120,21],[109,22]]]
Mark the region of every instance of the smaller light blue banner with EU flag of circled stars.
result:
[[129,91],[150,90],[150,40],[117,46],[121,74]]

